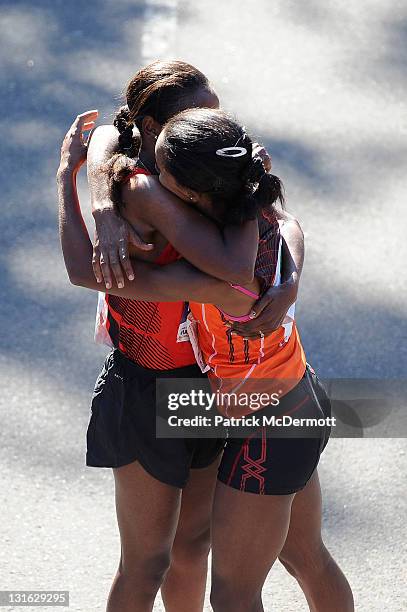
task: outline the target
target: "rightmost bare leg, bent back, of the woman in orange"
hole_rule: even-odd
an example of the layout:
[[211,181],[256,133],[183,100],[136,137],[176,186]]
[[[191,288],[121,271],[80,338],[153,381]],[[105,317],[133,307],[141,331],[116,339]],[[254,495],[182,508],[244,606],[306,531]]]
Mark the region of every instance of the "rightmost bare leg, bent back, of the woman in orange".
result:
[[301,586],[311,612],[353,612],[353,595],[321,537],[318,473],[295,495],[290,528],[279,560]]

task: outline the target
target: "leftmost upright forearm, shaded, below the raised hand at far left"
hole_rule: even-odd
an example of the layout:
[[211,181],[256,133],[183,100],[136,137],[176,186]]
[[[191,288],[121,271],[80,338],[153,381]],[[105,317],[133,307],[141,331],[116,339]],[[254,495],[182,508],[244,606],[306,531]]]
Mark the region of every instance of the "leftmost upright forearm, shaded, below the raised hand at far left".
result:
[[60,169],[57,186],[59,237],[69,279],[73,284],[81,284],[83,279],[91,278],[97,286],[92,270],[92,243],[76,190],[76,172],[68,168]]

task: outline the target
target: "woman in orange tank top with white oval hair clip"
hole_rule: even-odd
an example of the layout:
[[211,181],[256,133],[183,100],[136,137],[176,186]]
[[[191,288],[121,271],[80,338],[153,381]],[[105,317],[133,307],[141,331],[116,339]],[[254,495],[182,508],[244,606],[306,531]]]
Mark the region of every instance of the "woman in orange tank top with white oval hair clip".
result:
[[[211,603],[215,612],[261,612],[263,583],[277,558],[295,572],[312,609],[350,612],[350,587],[320,533],[316,468],[330,434],[329,398],[305,362],[293,318],[267,340],[260,334],[258,340],[242,339],[236,344],[229,331],[231,321],[246,318],[257,295],[276,282],[279,273],[280,241],[273,206],[276,200],[283,201],[281,183],[251,153],[252,141],[244,129],[220,111],[204,109],[185,111],[171,119],[156,146],[159,182],[174,195],[219,224],[225,219],[237,224],[258,216],[267,219],[272,231],[267,236],[267,231],[260,230],[253,280],[236,287],[182,260],[164,267],[135,262],[134,281],[112,293],[140,300],[189,300],[196,355],[215,383],[260,381],[263,391],[271,377],[283,388],[278,402],[270,402],[258,414],[279,420],[294,415],[317,424],[312,435],[301,429],[300,437],[287,437],[278,431],[278,425],[255,423],[245,437],[231,435],[228,439],[213,508]],[[170,222],[171,197],[163,196],[154,178],[137,180],[143,191],[144,220],[153,225],[154,217],[160,215]],[[131,185],[122,196],[131,221]],[[80,256],[90,262],[92,247],[78,210],[71,211],[69,226],[76,238],[76,253],[70,241],[63,239],[66,259]],[[78,284],[99,288],[90,266]],[[252,376],[255,373],[259,376]],[[284,387],[288,380],[291,383]],[[313,566],[320,568],[317,574],[307,569],[304,559],[291,564],[302,538],[307,542],[305,549],[312,551]]]

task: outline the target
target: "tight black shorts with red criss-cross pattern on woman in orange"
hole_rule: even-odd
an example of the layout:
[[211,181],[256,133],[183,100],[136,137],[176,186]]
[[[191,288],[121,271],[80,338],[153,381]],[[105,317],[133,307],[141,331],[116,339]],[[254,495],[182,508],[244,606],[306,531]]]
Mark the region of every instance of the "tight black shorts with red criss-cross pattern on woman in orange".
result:
[[[275,408],[264,410],[273,414]],[[257,414],[261,413],[263,410]],[[278,413],[294,418],[331,416],[329,397],[309,364],[298,385],[281,398]],[[273,427],[267,426],[253,429],[245,438],[228,438],[218,479],[234,489],[258,495],[300,491],[314,473],[330,433],[330,426],[321,426],[315,437],[274,437],[275,428],[273,432]]]

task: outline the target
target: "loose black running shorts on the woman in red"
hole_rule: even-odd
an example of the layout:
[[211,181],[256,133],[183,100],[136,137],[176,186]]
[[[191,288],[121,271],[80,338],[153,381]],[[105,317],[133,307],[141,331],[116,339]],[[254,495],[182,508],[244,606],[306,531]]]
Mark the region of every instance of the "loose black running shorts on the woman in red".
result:
[[116,468],[139,461],[151,476],[183,488],[189,470],[211,465],[225,440],[156,438],[156,378],[206,378],[197,365],[150,370],[118,349],[106,357],[92,396],[86,465]]

